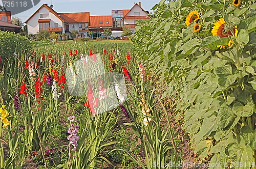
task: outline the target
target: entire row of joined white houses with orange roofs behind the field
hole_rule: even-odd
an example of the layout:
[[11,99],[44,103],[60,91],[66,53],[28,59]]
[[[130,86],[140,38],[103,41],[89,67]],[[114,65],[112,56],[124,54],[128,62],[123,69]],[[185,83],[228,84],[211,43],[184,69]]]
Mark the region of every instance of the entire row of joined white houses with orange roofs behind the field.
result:
[[122,31],[122,26],[127,25],[135,30],[136,20],[148,19],[147,14],[140,2],[130,10],[112,10],[111,15],[105,16],[90,16],[89,12],[57,13],[52,5],[49,7],[44,4],[25,23],[28,25],[28,34],[46,30],[70,36],[72,30],[77,30],[77,37],[88,37],[89,31],[96,33],[98,37],[106,28]]

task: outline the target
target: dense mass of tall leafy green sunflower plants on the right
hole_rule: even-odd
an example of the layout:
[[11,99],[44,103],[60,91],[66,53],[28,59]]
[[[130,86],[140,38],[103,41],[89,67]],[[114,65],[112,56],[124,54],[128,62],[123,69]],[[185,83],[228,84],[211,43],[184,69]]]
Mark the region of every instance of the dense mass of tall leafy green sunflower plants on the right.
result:
[[255,168],[255,7],[161,1],[135,33],[139,57],[166,89],[162,98],[178,96],[176,121],[209,166]]

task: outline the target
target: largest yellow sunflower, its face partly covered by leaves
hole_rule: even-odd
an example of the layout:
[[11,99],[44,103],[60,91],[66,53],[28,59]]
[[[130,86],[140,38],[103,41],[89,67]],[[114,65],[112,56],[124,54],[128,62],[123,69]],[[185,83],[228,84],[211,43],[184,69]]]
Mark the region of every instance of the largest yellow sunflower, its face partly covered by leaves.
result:
[[[232,36],[231,31],[227,31],[227,32],[225,31],[225,29],[224,29],[225,23],[226,23],[225,20],[223,18],[220,18],[212,27],[211,34],[218,35],[221,38],[225,38],[228,35]],[[238,36],[237,26],[234,26],[233,32],[234,32],[234,36],[237,38],[237,36]],[[227,45],[230,46],[230,45],[232,45],[232,43],[233,43],[233,41],[229,40]],[[220,49],[225,48],[224,45],[217,45],[217,47],[219,47]]]

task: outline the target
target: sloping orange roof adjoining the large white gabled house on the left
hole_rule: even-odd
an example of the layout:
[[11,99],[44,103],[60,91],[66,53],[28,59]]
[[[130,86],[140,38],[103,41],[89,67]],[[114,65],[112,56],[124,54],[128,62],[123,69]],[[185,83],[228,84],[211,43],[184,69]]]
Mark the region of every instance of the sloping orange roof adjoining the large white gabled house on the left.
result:
[[68,23],[89,23],[90,12],[58,13]]

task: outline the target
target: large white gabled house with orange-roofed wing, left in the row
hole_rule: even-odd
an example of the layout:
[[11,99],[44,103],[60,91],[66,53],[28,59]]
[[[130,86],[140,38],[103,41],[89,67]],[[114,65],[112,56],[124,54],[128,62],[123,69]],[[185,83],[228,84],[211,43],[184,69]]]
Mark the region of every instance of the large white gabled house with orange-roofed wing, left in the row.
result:
[[39,31],[49,31],[55,33],[66,33],[71,35],[72,30],[79,33],[89,31],[90,13],[57,13],[53,6],[42,5],[26,21],[28,25],[28,34],[36,34]]

